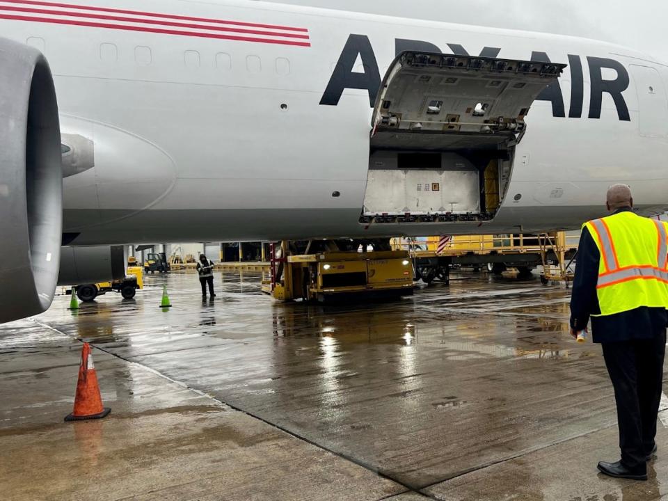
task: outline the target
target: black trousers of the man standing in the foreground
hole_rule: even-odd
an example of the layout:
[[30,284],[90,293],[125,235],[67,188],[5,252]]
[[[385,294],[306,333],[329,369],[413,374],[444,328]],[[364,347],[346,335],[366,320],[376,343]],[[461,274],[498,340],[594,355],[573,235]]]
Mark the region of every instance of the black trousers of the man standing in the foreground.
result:
[[661,401],[666,331],[653,339],[604,342],[603,358],[614,387],[621,462],[644,466],[654,447]]

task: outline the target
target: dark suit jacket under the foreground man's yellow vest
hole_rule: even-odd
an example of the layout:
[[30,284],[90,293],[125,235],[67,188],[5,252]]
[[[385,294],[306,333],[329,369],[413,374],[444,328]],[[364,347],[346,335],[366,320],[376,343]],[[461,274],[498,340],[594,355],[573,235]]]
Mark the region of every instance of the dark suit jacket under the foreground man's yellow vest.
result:
[[[631,209],[619,209],[615,214]],[[582,230],[578,256],[575,260],[575,278],[571,294],[571,328],[582,331],[587,327],[590,315],[601,314],[596,295],[598,263],[601,253],[589,234]],[[628,312],[591,317],[591,333],[594,342],[615,342],[634,339],[651,339],[665,331],[668,312],[665,308],[636,308]]]

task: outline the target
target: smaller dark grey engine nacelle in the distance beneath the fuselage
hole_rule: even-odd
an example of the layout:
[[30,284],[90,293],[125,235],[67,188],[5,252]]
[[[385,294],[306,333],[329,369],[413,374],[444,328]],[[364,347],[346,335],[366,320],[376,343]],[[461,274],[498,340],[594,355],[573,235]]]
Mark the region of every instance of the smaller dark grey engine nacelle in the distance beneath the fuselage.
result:
[[125,278],[123,246],[63,247],[58,285],[83,285]]

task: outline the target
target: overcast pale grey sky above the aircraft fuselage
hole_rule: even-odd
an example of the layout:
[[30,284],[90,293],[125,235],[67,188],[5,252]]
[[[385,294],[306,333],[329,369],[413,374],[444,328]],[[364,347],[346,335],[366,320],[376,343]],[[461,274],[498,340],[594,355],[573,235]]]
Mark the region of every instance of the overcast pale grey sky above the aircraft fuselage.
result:
[[463,24],[585,36],[668,63],[666,0],[269,0]]

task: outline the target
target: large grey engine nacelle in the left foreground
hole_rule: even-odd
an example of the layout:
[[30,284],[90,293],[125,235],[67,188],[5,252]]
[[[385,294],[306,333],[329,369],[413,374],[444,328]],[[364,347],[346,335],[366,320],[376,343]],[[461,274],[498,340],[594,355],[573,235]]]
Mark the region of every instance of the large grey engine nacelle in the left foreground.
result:
[[45,311],[63,225],[58,104],[40,51],[0,38],[0,322]]

